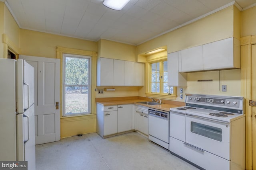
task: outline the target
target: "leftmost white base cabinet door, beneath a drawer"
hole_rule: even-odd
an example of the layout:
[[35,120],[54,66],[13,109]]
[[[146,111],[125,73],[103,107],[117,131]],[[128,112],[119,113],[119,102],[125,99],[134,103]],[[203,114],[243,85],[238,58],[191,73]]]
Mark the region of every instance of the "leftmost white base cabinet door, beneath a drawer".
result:
[[117,111],[104,111],[104,136],[117,133]]

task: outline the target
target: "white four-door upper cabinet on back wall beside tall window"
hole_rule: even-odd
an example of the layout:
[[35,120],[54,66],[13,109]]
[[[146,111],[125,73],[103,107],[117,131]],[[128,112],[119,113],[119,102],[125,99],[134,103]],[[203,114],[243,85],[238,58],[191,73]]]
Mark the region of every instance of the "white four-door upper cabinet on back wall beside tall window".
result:
[[144,63],[99,58],[97,86],[144,86]]

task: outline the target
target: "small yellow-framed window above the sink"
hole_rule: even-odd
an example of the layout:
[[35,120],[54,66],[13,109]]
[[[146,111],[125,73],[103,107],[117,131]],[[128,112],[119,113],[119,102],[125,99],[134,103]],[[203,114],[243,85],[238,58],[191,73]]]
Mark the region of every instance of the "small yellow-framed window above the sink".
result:
[[147,97],[176,99],[176,90],[168,86],[167,58],[148,61]]

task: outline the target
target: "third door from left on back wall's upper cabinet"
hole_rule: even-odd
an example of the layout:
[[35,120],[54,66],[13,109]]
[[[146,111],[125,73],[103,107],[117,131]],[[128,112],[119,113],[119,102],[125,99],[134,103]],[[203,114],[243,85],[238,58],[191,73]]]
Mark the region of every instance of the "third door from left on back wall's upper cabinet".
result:
[[125,61],[124,85],[134,86],[134,62]]

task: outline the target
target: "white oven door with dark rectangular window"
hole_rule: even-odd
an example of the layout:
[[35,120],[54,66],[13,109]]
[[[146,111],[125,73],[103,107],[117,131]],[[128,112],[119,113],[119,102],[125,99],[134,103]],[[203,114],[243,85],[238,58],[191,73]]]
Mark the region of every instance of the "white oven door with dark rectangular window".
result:
[[186,115],[186,143],[230,160],[230,123]]

